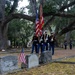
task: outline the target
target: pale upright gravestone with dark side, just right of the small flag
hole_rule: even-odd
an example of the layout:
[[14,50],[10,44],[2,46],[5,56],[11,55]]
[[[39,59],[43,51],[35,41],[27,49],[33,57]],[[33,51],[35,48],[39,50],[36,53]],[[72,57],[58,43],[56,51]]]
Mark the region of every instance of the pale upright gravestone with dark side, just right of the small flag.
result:
[[36,54],[26,55],[25,59],[27,64],[25,65],[22,63],[21,68],[32,68],[39,66],[39,58]]

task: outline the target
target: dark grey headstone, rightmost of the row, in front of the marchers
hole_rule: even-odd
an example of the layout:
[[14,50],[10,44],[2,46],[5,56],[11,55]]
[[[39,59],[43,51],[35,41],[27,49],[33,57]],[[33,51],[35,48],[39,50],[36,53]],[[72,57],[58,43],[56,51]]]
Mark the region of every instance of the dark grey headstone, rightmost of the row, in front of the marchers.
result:
[[52,52],[51,51],[44,51],[41,53],[39,62],[44,64],[44,63],[49,63],[52,61]]

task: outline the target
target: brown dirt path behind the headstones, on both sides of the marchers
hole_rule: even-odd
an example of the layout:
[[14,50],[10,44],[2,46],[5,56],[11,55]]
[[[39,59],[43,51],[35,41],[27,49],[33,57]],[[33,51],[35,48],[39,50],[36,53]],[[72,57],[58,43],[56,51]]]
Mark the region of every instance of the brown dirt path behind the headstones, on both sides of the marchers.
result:
[[[17,50],[17,49],[15,49],[15,50]],[[31,53],[30,50],[31,49],[28,49],[28,50],[25,49],[25,54],[26,55],[30,54]],[[17,56],[19,56],[20,51],[21,50],[19,50],[19,52],[15,52],[15,53],[14,53],[14,51],[10,52],[10,53],[9,52],[0,52],[0,56],[6,56],[6,55],[17,55]],[[70,50],[69,48],[66,50],[64,48],[55,48],[55,53],[52,56],[52,59],[58,59],[58,58],[63,58],[63,57],[67,57],[67,56],[75,56],[75,47],[72,50]]]

